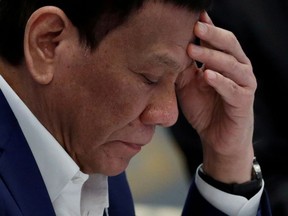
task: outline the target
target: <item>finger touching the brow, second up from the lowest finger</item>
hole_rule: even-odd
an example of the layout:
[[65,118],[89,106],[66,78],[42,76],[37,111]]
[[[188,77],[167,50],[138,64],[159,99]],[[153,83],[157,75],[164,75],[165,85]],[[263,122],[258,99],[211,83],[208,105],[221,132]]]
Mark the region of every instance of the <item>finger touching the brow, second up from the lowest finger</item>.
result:
[[256,85],[252,66],[238,62],[230,54],[195,44],[189,44],[187,53],[192,59],[202,62],[206,69],[217,71],[240,86]]

